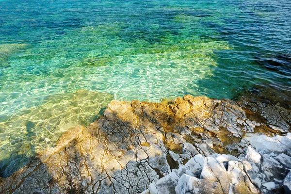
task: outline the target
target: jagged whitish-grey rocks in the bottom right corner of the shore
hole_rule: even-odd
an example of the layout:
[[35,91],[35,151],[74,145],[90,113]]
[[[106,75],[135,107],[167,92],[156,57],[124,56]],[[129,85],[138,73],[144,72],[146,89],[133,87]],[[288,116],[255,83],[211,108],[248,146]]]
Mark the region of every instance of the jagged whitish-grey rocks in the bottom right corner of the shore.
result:
[[[253,143],[264,141],[291,146],[291,133],[286,137],[257,135]],[[289,147],[288,147],[289,146]],[[185,165],[173,170],[169,175],[150,184],[144,192],[150,194],[273,194],[290,193],[291,157],[282,153],[279,146],[260,146],[259,153],[248,147],[238,158],[232,155],[212,154],[204,157],[195,155]],[[279,149],[276,149],[279,148]],[[290,152],[290,151],[289,151]],[[287,176],[286,176],[287,175]]]

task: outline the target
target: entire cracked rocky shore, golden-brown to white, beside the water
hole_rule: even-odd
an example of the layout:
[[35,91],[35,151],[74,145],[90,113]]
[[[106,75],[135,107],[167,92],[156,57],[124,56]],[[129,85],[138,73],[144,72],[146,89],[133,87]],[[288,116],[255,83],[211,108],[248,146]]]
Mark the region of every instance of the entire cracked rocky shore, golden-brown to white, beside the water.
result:
[[[0,178],[0,193],[288,191],[291,113],[258,106],[190,95],[161,103],[113,100],[90,126],[69,129],[54,148]],[[275,120],[271,109],[280,111]],[[285,148],[249,146],[262,138]]]

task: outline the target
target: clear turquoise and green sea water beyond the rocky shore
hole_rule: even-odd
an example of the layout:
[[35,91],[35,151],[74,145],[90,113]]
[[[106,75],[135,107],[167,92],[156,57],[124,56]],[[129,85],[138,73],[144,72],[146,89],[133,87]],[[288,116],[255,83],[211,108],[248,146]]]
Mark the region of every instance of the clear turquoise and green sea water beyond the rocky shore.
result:
[[0,176],[112,99],[291,90],[290,0],[0,0]]

